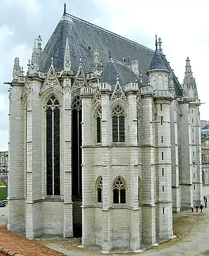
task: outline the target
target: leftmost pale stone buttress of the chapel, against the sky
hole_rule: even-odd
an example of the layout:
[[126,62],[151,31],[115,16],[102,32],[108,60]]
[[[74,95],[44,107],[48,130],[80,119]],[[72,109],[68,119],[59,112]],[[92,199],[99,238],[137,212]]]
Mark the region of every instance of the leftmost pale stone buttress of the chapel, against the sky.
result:
[[25,113],[24,83],[13,82],[9,96],[8,229],[25,231]]

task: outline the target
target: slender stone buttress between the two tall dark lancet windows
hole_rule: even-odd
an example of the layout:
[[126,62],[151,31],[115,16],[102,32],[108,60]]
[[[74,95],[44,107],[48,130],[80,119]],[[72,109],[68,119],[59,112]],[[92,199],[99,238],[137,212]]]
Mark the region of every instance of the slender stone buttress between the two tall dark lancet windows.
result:
[[71,170],[71,80],[64,79],[63,151],[64,151],[64,238],[73,236],[72,230],[72,170]]

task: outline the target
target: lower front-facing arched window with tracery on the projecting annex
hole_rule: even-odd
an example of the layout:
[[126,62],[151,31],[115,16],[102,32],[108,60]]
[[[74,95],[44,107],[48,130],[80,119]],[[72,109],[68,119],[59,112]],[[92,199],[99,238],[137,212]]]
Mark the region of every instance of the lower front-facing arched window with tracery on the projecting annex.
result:
[[113,185],[113,204],[125,204],[126,193],[125,193],[125,181],[123,178],[116,178]]

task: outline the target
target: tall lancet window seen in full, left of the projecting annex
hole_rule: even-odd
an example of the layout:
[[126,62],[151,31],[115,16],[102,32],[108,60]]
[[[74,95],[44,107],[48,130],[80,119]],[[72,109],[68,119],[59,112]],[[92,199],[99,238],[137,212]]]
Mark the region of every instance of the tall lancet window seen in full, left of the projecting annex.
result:
[[60,103],[47,102],[47,195],[60,195]]

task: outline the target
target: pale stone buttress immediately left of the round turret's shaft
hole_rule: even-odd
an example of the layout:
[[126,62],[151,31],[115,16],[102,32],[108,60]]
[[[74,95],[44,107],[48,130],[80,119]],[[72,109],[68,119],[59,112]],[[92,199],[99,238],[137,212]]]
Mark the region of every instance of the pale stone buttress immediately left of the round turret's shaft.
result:
[[142,95],[142,241],[156,242],[152,97]]

